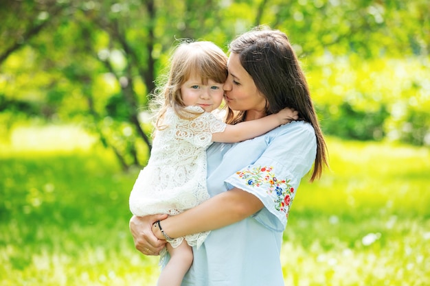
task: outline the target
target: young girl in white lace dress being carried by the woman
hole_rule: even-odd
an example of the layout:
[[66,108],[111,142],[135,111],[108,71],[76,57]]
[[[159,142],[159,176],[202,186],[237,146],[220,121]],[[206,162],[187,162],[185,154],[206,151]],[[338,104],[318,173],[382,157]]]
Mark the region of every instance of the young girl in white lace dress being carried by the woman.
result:
[[[285,108],[262,119],[227,125],[211,113],[223,101],[226,79],[227,56],[214,43],[181,43],[174,51],[168,80],[156,95],[162,97],[163,103],[157,115],[151,156],[131,191],[133,215],[177,215],[201,204],[210,198],[205,150],[212,142],[245,141],[297,119],[297,112]],[[267,110],[267,104],[261,108]],[[158,285],[181,285],[192,264],[191,246],[201,246],[209,232],[171,239],[160,222],[155,227],[168,241],[166,248],[171,257],[161,271]],[[165,255],[166,251],[161,254],[161,264]]]

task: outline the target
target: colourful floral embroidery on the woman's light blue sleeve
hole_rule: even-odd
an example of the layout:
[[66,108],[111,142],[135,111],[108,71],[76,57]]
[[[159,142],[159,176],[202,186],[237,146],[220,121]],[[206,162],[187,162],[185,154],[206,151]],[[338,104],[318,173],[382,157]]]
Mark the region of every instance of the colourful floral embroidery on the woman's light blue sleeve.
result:
[[275,209],[286,214],[293,202],[294,188],[291,180],[278,180],[273,172],[273,167],[254,167],[245,171],[238,171],[239,178],[247,180],[251,187],[267,187],[267,193],[274,197]]

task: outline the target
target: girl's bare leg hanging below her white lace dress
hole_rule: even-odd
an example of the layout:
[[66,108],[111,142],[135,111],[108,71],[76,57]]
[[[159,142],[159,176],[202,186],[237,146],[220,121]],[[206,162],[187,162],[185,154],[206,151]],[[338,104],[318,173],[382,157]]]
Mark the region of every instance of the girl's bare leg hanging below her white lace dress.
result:
[[166,244],[170,254],[170,261],[161,270],[157,286],[180,286],[183,276],[190,269],[193,259],[192,248],[185,239],[177,248]]

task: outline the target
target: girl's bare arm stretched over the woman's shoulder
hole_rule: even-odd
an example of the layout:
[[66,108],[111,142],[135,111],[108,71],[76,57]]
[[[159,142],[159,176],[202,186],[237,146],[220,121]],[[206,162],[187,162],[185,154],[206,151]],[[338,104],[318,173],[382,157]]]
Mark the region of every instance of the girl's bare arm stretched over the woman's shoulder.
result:
[[224,132],[212,134],[213,142],[236,143],[260,136],[270,130],[298,119],[297,110],[284,108],[280,112],[256,120],[228,125]]

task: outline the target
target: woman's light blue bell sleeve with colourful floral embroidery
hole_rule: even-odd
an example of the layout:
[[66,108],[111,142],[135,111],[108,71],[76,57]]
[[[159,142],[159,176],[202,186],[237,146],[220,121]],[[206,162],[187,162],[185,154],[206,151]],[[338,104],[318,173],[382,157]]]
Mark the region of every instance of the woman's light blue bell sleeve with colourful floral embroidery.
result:
[[253,217],[275,231],[286,227],[300,180],[313,166],[317,152],[315,131],[309,123],[293,122],[268,136],[256,162],[240,169],[225,183],[256,195],[264,208]]

